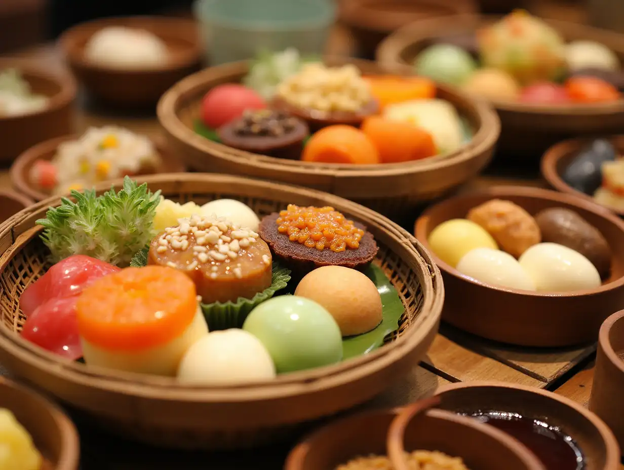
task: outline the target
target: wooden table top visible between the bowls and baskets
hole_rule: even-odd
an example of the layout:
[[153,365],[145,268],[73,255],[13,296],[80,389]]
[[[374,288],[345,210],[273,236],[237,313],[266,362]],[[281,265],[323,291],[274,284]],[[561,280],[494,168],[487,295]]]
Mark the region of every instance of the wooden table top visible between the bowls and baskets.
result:
[[[339,27],[334,30],[330,44],[335,45],[332,52],[339,54],[348,53],[353,46],[348,33]],[[22,55],[46,61],[51,67],[62,64],[53,46],[39,47]],[[92,125],[113,123],[151,136],[161,132],[154,115],[104,113],[92,109],[87,100],[80,99],[79,102],[77,132]],[[522,173],[522,177],[513,169],[507,169],[507,174],[514,177],[506,176],[501,170],[488,170],[461,190],[497,184],[544,186],[537,169]],[[10,184],[6,169],[0,170],[0,188]],[[415,364],[409,375],[397,378],[386,393],[366,406],[398,406],[434,393],[440,384],[471,380],[498,380],[544,388],[587,406],[592,389],[594,356],[595,345],[563,349],[513,348],[442,325],[422,363]],[[293,444],[223,454],[166,451],[114,438],[92,428],[89,423],[83,423],[75,414],[73,416],[81,435],[82,470],[279,469]]]

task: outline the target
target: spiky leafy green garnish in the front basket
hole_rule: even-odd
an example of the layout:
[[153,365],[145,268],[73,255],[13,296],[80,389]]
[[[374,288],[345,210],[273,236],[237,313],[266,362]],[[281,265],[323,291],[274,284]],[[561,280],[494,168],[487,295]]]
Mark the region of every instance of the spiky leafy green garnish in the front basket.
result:
[[37,220],[45,228],[41,239],[52,261],[87,255],[124,267],[150,242],[160,191],[152,193],[146,183],[137,186],[125,177],[119,193],[110,188],[97,197],[95,190],[73,190],[71,196],[76,202],[64,197],[59,207]]

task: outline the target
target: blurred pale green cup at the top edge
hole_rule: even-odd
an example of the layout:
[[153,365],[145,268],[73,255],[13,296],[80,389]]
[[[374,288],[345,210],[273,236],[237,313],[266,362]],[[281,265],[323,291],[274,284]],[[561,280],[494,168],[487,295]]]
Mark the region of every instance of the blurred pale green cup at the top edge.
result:
[[321,54],[336,16],[333,0],[197,0],[193,10],[213,66],[265,49]]

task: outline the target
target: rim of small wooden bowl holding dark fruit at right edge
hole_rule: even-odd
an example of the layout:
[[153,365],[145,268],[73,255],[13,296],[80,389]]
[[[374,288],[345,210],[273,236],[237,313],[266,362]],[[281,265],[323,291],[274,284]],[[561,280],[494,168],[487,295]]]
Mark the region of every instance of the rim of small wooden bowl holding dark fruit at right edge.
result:
[[[606,139],[623,139],[624,134],[617,135],[608,135],[605,137]],[[557,162],[562,159],[564,155],[569,154],[573,150],[580,150],[583,145],[588,144],[593,139],[589,137],[579,138],[579,139],[567,139],[562,140],[562,142],[558,142],[557,144],[550,147],[550,149],[546,150],[545,154],[542,156],[542,161],[540,162],[540,170],[544,179],[557,191],[566,194],[572,194],[577,197],[583,198],[588,202],[592,202],[593,204],[598,205],[599,207],[603,207],[611,212],[617,213],[620,217],[624,217],[624,209],[618,210],[617,208],[610,208],[606,205],[602,205],[596,200],[584,192],[578,191],[572,186],[568,185],[565,181],[563,181],[562,177],[559,176],[557,172]],[[617,152],[617,149],[616,149]]]

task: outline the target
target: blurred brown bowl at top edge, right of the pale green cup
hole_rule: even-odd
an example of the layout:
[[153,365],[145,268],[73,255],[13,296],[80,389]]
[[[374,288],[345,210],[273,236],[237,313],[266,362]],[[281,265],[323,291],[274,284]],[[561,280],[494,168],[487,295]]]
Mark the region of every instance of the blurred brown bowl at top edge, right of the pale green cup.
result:
[[374,57],[379,43],[406,24],[476,11],[474,0],[341,0],[338,19],[349,27],[359,52]]

